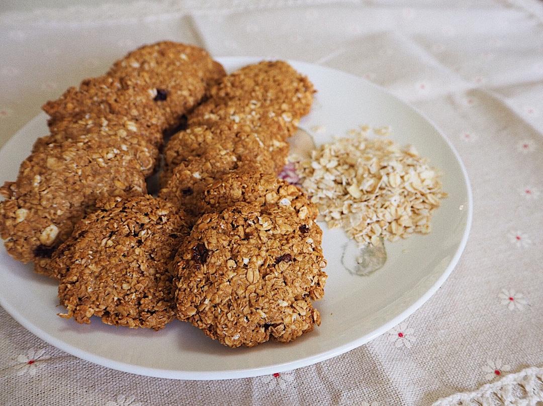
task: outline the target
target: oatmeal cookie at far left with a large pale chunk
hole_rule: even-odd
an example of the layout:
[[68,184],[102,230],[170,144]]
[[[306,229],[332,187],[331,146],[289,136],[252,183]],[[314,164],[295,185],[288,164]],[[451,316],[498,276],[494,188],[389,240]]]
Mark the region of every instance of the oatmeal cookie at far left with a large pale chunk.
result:
[[99,139],[69,140],[31,154],[0,188],[0,235],[15,259],[48,259],[97,198],[145,192],[132,155]]

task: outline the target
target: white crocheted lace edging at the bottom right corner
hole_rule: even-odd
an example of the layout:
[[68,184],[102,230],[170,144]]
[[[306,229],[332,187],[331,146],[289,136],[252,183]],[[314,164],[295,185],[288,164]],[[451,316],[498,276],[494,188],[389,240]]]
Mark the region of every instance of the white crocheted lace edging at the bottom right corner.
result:
[[474,392],[439,399],[433,406],[535,406],[538,402],[543,402],[543,368],[531,367],[483,385]]

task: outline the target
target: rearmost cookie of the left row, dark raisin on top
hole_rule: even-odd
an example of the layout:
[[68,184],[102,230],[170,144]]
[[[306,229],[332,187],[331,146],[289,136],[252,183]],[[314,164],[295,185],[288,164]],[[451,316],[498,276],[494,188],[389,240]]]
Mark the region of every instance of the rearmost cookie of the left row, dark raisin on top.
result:
[[181,43],[144,46],[116,62],[110,71],[69,88],[43,110],[50,125],[89,112],[113,113],[161,129],[175,126],[200,102],[206,86],[224,75],[203,49]]

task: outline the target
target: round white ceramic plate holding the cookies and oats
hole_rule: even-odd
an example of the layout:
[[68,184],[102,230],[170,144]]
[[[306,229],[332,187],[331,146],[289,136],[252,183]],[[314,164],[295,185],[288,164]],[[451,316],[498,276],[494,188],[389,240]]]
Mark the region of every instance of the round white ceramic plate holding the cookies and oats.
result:
[[[221,58],[228,71],[257,58]],[[449,197],[432,219],[433,231],[386,243],[388,259],[370,276],[352,275],[340,261],[348,242],[341,230],[323,226],[328,261],[326,294],[315,302],[320,327],[288,345],[267,342],[232,350],[205,337],[188,323],[173,321],[160,332],[116,328],[93,319],[78,325],[56,315],[56,283],[34,274],[30,265],[14,261],[0,249],[0,304],[41,339],[74,356],[113,369],[162,378],[228,379],[282,372],[310,365],[352,350],[386,332],[418,309],[441,286],[458,262],[471,225],[468,177],[458,154],[428,119],[382,88],[353,75],[302,62],[291,62],[308,75],[318,93],[301,126],[326,126],[314,134],[317,143],[344,136],[367,123],[390,125],[392,139],[415,145],[422,156],[443,171]],[[47,134],[42,113],[0,151],[1,177],[15,180],[34,140]]]

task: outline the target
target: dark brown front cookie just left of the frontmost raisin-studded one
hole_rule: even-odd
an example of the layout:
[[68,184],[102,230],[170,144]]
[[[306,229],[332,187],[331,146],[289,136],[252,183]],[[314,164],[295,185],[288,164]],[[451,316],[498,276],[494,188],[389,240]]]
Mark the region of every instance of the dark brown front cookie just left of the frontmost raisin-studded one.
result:
[[61,280],[65,318],[161,329],[174,317],[169,263],[188,229],[174,206],[153,196],[109,198],[75,225],[50,268]]

